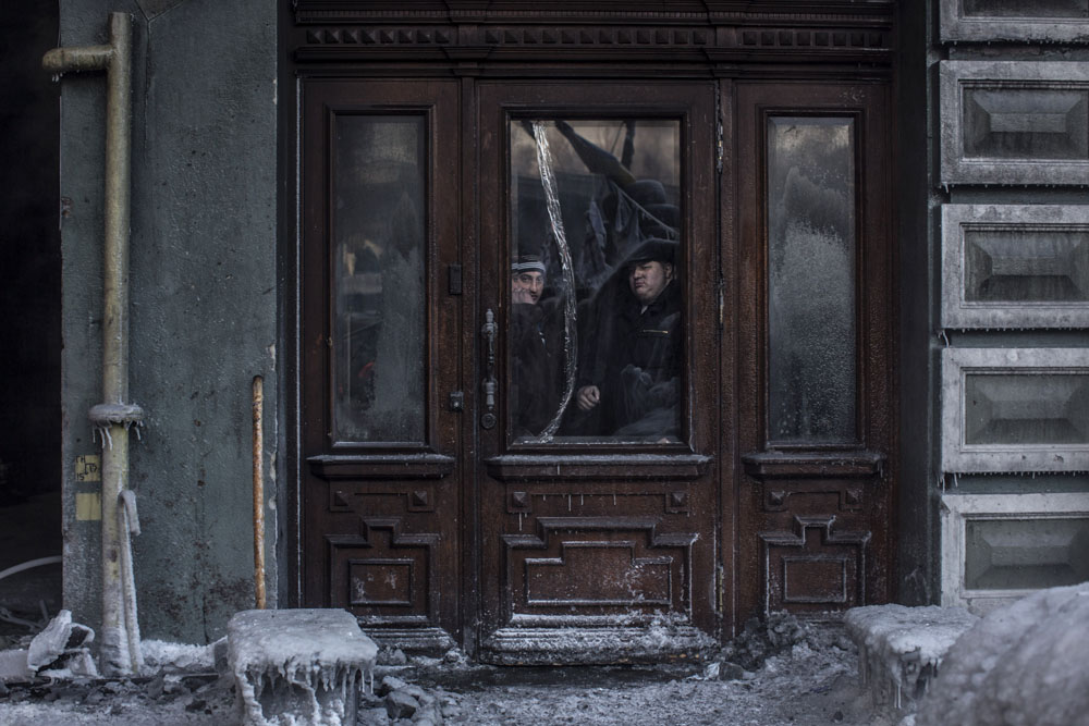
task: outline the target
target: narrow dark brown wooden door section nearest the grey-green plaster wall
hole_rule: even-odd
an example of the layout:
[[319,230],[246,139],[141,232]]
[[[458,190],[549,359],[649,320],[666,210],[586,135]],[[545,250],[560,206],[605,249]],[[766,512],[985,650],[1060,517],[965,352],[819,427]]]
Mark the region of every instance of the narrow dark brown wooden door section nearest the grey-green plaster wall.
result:
[[401,648],[458,641],[457,85],[302,99],[303,601]]

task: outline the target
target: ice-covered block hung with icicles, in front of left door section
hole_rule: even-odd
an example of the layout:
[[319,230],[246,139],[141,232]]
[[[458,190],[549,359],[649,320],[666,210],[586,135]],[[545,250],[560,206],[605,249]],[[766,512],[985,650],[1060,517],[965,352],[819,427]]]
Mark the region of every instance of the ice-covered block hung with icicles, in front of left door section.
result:
[[244,726],[351,726],[378,645],[342,610],[254,610],[227,625]]

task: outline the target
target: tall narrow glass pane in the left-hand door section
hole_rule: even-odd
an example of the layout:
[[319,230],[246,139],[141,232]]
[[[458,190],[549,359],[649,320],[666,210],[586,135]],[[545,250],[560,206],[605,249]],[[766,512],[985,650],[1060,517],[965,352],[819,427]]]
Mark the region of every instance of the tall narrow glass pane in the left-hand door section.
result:
[[335,118],[335,441],[424,441],[424,141],[421,116]]

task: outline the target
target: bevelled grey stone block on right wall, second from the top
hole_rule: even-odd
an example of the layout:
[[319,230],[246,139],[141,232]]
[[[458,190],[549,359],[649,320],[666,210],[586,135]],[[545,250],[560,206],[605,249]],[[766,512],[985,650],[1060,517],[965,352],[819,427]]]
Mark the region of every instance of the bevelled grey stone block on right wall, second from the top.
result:
[[943,184],[1089,184],[1089,63],[942,61]]

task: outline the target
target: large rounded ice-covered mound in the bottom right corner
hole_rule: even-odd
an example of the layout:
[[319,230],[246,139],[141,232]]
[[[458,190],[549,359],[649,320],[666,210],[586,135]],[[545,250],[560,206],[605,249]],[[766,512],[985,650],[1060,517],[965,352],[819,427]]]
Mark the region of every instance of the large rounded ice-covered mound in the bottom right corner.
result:
[[1089,726],[1089,583],[989,613],[950,649],[916,726]]

